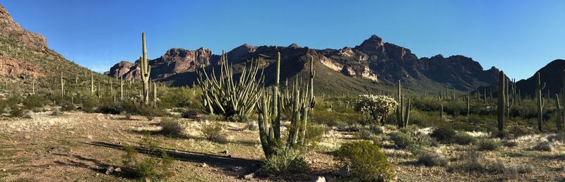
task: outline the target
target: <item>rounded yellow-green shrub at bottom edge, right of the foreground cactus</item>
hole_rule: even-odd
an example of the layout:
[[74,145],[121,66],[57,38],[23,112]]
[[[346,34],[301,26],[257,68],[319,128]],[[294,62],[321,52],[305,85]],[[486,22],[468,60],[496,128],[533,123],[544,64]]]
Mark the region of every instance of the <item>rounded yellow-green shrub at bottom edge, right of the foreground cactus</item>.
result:
[[394,178],[391,164],[377,143],[350,142],[335,152],[335,157],[350,167],[351,176],[359,181],[389,181]]

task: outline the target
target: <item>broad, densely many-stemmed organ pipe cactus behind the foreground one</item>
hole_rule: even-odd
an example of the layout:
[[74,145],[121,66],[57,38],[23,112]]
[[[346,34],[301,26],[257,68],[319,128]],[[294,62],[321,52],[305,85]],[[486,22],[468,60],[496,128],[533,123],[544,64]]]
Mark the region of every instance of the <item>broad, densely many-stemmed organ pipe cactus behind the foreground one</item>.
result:
[[222,114],[227,118],[251,114],[261,97],[263,85],[263,70],[258,75],[258,62],[243,68],[239,78],[235,78],[233,66],[227,61],[227,55],[222,54],[220,75],[212,71],[211,75],[202,68],[197,71],[198,85],[202,89],[203,106],[210,114]]

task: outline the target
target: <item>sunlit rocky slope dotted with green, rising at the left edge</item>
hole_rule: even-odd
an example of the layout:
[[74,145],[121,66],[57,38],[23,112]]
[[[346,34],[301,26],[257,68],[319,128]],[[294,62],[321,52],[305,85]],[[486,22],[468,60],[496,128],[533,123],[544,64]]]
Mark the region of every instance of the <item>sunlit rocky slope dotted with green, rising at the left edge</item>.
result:
[[[25,30],[16,23],[3,6],[0,6],[0,80],[13,84],[53,85],[56,78],[73,80],[90,79],[92,71],[65,59],[47,47],[47,40],[40,34]],[[95,78],[103,75],[95,73]],[[53,83],[52,83],[53,82]]]

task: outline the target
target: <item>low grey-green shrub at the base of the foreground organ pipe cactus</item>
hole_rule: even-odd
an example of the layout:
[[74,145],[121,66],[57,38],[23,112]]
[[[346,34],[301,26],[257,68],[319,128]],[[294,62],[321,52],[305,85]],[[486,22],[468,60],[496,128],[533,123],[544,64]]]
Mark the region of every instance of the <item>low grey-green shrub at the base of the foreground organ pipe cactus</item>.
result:
[[283,175],[297,171],[304,171],[307,163],[302,157],[299,157],[299,150],[291,147],[275,147],[273,148],[275,155],[272,155],[264,161],[263,168],[259,173],[270,175]]

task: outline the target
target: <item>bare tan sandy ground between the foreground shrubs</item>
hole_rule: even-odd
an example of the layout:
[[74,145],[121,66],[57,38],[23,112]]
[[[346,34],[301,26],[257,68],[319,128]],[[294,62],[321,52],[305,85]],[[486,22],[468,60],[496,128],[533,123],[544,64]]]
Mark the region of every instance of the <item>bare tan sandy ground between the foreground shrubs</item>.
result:
[[[110,166],[120,166],[124,145],[141,146],[141,131],[154,131],[150,138],[160,141],[175,160],[174,176],[169,181],[247,181],[241,178],[256,169],[263,159],[257,131],[243,130],[245,123],[224,125],[229,142],[209,142],[199,131],[201,121],[183,119],[186,137],[169,138],[158,134],[160,119],[73,111],[63,116],[49,112],[32,114],[32,119],[0,121],[0,181],[132,181],[116,173],[106,174]],[[424,130],[427,130],[424,128]],[[481,133],[474,133],[482,135]],[[330,131],[314,150],[304,153],[309,170],[281,177],[251,178],[251,181],[311,181],[325,176],[332,181],[338,163],[331,150],[342,142],[353,140],[352,133]],[[565,178],[565,147],[555,142],[552,152],[530,148],[547,135],[518,138],[518,146],[482,152],[498,157],[508,165],[528,165],[525,174],[475,174],[449,171],[448,167],[417,165],[417,157],[406,150],[396,150],[385,141],[383,150],[389,157],[398,181],[559,181]],[[455,162],[474,146],[441,145],[436,151]],[[141,148],[143,150],[143,148]],[[227,152],[223,152],[227,151]]]

